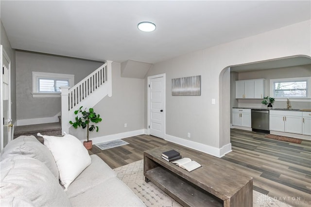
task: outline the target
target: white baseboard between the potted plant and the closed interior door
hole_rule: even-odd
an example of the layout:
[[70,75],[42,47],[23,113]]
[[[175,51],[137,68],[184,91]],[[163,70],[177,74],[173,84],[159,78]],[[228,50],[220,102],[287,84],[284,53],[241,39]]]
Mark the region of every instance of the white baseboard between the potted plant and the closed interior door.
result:
[[[102,137],[91,138],[90,140],[92,140],[93,144],[98,144],[98,143],[104,143],[104,142],[109,142],[113,140],[120,140],[120,139],[127,138],[127,137],[133,137],[133,136],[137,136],[140,134],[145,134],[145,129],[127,131],[127,132],[122,132],[118,134],[110,134],[110,135],[106,135]],[[81,142],[83,141],[86,141],[86,139],[81,140]]]

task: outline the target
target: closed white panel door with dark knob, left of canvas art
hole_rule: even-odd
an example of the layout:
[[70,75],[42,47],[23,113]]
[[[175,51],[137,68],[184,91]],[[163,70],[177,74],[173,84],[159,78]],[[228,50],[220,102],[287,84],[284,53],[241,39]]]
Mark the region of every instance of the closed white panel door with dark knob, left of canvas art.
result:
[[148,77],[149,134],[164,139],[165,134],[165,74]]

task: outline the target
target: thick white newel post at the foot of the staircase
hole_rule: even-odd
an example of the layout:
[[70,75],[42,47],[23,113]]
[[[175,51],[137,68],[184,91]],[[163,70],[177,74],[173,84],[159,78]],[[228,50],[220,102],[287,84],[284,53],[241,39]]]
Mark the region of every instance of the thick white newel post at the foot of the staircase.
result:
[[70,87],[60,87],[61,99],[62,99],[62,135],[64,132],[69,134],[69,101],[68,101],[68,90]]

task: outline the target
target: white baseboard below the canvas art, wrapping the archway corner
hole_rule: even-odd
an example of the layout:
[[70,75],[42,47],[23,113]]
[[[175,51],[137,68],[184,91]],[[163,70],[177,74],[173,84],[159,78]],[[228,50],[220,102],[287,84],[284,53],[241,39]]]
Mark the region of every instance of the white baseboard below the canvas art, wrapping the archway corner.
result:
[[177,143],[177,144],[189,147],[191,149],[198,150],[200,152],[207,153],[207,154],[215,156],[217,158],[221,158],[221,157],[225,156],[225,154],[232,151],[231,150],[231,143],[226,144],[222,148],[217,148],[217,147],[209,146],[206,144],[196,143],[196,142],[193,142],[190,140],[185,140],[185,139],[182,139],[179,137],[174,137],[174,136],[171,136],[168,134],[165,135],[165,140],[172,142],[172,143]]

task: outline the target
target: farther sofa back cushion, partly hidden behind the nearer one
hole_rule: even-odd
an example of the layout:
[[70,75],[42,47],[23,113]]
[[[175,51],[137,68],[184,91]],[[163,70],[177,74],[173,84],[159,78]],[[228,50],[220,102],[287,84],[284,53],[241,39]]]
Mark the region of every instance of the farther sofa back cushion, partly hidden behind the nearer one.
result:
[[35,136],[19,136],[9,142],[1,152],[1,160],[24,155],[43,162],[58,180],[58,169],[50,150],[40,143]]

